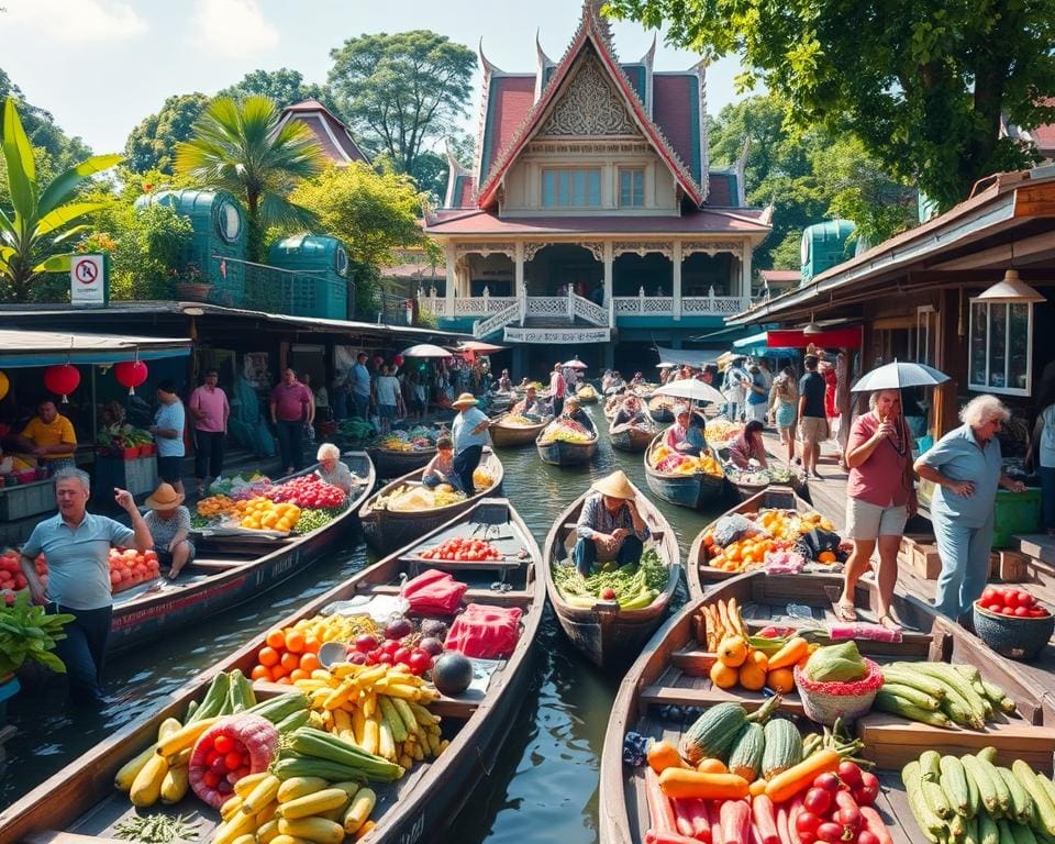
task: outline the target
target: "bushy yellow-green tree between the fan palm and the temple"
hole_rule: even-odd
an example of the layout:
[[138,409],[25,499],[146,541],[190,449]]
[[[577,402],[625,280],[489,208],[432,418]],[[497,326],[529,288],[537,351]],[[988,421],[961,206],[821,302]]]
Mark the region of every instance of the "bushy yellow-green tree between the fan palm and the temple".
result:
[[377,308],[380,268],[396,263],[399,249],[426,244],[419,224],[424,197],[408,176],[391,168],[377,173],[362,163],[329,167],[301,182],[290,199],[347,246],[360,313]]

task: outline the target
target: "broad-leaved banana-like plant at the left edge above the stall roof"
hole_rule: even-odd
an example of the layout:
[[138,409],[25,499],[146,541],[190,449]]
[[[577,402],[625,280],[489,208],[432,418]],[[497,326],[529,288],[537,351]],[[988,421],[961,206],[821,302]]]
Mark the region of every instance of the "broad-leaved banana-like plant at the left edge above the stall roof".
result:
[[[120,155],[96,155],[37,185],[33,145],[22,127],[14,99],[3,104],[3,159],[11,208],[0,208],[0,300],[24,302],[34,279],[43,273],[69,270],[69,254],[55,254],[88,226],[81,221],[103,202],[79,202],[78,186],[123,160]],[[9,213],[10,212],[10,213]]]

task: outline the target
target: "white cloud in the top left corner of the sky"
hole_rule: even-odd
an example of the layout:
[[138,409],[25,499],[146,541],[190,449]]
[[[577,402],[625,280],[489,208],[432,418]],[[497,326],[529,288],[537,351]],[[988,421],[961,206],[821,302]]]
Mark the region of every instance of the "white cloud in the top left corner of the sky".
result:
[[67,44],[127,41],[146,21],[121,0],[4,0],[8,22],[38,30]]

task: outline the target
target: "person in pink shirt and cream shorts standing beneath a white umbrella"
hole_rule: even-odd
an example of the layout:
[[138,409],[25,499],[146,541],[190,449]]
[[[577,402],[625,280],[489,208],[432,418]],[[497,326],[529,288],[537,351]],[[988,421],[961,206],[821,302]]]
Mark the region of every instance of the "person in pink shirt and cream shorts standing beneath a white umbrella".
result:
[[890,601],[898,581],[898,547],[906,522],[915,514],[915,488],[912,484],[912,452],[909,429],[901,415],[901,391],[877,390],[868,399],[868,413],[854,420],[846,445],[845,535],[854,543],[846,560],[839,615],[843,621],[857,618],[854,589],[879,545],[879,623],[897,626],[890,615]]

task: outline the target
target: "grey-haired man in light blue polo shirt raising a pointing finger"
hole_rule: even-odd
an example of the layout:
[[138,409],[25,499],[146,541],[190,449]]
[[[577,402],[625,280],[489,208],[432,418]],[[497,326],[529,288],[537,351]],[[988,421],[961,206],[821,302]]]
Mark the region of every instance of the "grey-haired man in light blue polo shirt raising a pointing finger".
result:
[[[151,532],[132,495],[114,489],[113,500],[127,514],[132,528],[113,519],[87,512],[91,481],[80,469],[60,469],[55,475],[58,514],[33,529],[22,546],[22,573],[33,602],[48,613],[68,612],[74,621],[55,655],[66,665],[70,696],[75,701],[103,703],[102,665],[110,635],[113,598],[110,593],[110,547],[148,551]],[[34,560],[47,558],[47,588],[36,577]]]

